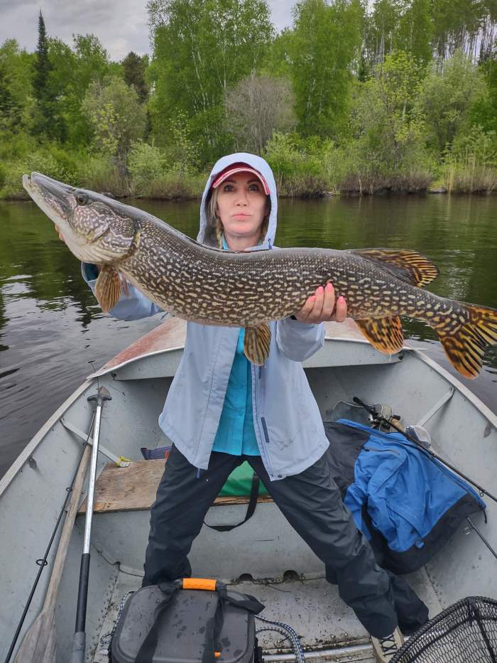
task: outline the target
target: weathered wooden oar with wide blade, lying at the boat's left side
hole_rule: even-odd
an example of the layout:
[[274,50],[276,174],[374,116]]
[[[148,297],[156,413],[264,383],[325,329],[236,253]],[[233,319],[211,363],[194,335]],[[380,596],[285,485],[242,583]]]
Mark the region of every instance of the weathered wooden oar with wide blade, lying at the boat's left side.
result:
[[14,663],[55,663],[55,600],[62,578],[62,571],[64,568],[65,556],[69,541],[72,534],[72,529],[75,524],[77,508],[80,504],[81,489],[84,481],[84,475],[88,467],[88,461],[91,455],[89,445],[84,449],[83,456],[80,461],[80,467],[77,470],[75,482],[72,486],[72,495],[65,517],[64,527],[62,534],[60,534],[59,546],[57,555],[53,563],[52,575],[50,576],[50,583],[48,584],[47,594],[45,596],[45,603],[43,609],[38,617],[34,620],[31,627],[29,627],[26,635],[24,636],[21,645],[14,659]]

